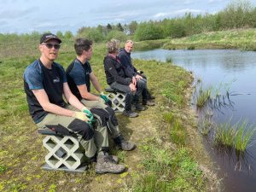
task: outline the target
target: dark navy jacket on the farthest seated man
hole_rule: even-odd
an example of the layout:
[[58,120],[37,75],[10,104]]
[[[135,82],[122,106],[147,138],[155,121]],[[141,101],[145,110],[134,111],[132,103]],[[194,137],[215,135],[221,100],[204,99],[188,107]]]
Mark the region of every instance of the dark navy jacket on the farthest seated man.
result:
[[133,76],[137,75],[137,69],[131,63],[131,53],[126,52],[125,48],[119,49],[119,60]]

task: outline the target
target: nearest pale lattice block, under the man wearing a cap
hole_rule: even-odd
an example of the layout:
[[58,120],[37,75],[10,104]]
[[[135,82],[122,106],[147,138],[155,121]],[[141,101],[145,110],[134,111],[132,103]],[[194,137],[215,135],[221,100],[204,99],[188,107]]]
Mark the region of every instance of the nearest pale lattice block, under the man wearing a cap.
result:
[[46,136],[43,145],[49,151],[45,162],[52,169],[76,170],[85,160],[84,151],[75,137]]

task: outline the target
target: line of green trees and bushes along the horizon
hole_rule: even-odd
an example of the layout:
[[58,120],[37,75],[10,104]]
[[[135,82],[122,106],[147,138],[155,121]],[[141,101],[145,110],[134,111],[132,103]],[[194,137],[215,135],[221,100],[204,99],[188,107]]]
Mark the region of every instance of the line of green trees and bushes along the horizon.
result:
[[[111,38],[125,41],[131,38],[136,41],[153,40],[160,38],[183,38],[201,32],[214,32],[237,28],[256,27],[256,7],[248,0],[233,0],[227,7],[217,14],[192,15],[187,13],[182,17],[148,20],[138,23],[136,20],[129,24],[118,23],[107,26],[83,26],[77,34],[70,31],[56,32],[56,35],[63,39],[90,38],[94,42],[106,42]],[[22,38],[23,40],[40,37],[39,32],[32,34],[1,34],[0,42],[8,39]]]

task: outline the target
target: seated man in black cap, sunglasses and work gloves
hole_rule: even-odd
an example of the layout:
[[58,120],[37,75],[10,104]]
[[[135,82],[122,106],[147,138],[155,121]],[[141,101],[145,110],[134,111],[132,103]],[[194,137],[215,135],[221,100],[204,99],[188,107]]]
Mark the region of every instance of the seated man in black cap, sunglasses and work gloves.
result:
[[[124,172],[125,166],[117,165],[113,156],[104,153],[108,151],[106,127],[94,131],[92,113],[69,90],[65,71],[55,62],[60,47],[60,38],[45,33],[40,39],[40,58],[26,67],[24,89],[32,119],[38,128],[75,134],[84,147],[85,155],[92,161],[96,159],[98,150],[96,172]],[[62,96],[70,105],[64,102]]]

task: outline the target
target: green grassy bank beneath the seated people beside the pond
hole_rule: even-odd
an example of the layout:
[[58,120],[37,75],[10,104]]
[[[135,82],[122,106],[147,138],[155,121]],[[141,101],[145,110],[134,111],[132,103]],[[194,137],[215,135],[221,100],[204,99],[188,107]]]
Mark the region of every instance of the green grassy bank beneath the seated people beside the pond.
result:
[[[167,39],[168,40],[168,39]],[[166,39],[155,44],[162,46]],[[136,44],[137,48],[151,43]],[[121,175],[88,172],[45,172],[43,136],[29,116],[22,74],[38,58],[38,41],[0,46],[0,191],[216,191],[218,179],[204,152],[197,131],[195,113],[189,108],[191,73],[160,61],[134,60],[148,76],[148,88],[156,96],[156,106],[137,119],[118,114],[126,139],[137,143],[131,152],[119,156],[128,171]],[[157,46],[155,46],[157,47]],[[105,44],[94,46],[90,61],[94,73],[106,87],[103,70]],[[59,59],[63,67],[73,61],[73,42],[63,42]]]

